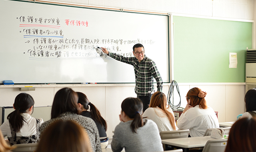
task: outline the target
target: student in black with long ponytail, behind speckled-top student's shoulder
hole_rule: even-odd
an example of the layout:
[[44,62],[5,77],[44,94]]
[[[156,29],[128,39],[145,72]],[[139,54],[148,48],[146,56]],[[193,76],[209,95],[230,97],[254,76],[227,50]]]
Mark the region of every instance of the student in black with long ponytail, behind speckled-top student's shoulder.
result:
[[[99,110],[89,102],[87,96],[82,92],[76,92],[78,94],[78,106],[82,110],[81,115],[92,118],[97,125],[100,133],[100,137],[106,137],[107,123],[100,115]],[[90,111],[87,111],[90,106]]]

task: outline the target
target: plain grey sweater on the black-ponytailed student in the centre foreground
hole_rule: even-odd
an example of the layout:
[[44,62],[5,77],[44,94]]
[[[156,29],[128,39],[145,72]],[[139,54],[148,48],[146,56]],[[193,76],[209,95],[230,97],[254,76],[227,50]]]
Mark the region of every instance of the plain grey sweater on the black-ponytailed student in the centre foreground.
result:
[[162,140],[157,125],[152,120],[144,119],[146,124],[132,132],[131,123],[120,122],[115,128],[111,142],[113,152],[160,152],[163,151]]

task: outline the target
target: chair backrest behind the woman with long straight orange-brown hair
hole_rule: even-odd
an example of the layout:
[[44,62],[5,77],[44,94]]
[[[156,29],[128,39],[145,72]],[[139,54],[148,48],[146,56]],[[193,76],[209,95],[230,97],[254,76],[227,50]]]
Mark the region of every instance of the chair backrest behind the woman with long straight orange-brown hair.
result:
[[189,129],[160,132],[161,139],[187,138]]

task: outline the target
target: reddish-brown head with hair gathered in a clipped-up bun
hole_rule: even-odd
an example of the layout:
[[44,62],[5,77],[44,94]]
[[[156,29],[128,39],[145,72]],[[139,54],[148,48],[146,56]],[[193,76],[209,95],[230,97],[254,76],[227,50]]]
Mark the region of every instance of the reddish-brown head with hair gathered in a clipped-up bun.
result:
[[206,100],[204,99],[206,94],[199,88],[192,88],[188,91],[186,99],[192,107],[199,105],[201,109],[207,109]]

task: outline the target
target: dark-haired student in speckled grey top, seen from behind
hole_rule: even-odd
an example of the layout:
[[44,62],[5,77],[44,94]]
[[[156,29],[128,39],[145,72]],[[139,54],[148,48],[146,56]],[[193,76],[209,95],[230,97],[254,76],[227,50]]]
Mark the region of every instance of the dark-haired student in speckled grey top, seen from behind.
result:
[[51,119],[41,126],[41,134],[56,120],[74,120],[85,128],[93,152],[101,152],[100,136],[95,122],[88,117],[79,115],[78,95],[71,88],[62,88],[56,92],[52,103]]

